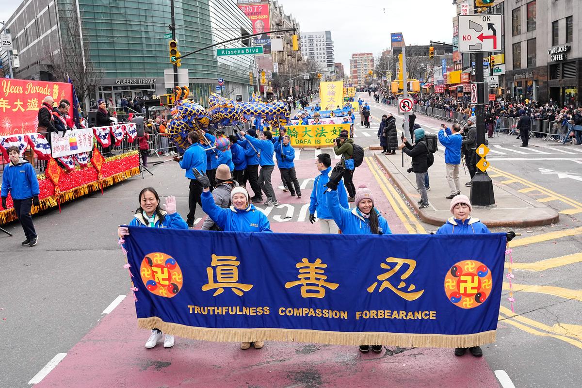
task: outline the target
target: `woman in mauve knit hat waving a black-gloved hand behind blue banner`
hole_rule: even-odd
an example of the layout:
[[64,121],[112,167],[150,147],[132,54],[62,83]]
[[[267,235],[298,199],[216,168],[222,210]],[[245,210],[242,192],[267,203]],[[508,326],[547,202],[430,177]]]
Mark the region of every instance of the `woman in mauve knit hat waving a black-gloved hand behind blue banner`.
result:
[[[335,166],[325,184],[328,187],[325,197],[329,212],[342,234],[392,234],[388,221],[374,207],[374,196],[365,185],[360,185],[356,191],[355,208],[350,210],[340,207],[337,189],[344,172],[345,168]],[[374,353],[382,351],[381,345],[360,345],[361,353],[368,353],[370,348]]]

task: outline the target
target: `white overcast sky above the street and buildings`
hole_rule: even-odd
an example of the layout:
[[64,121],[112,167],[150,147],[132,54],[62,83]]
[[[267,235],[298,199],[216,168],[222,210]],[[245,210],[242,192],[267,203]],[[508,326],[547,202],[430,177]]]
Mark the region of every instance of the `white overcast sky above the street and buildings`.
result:
[[[233,0],[234,1],[234,0]],[[22,1],[0,0],[0,20],[7,20]],[[301,31],[331,31],[335,62],[349,72],[354,52],[379,54],[390,47],[390,33],[403,33],[409,44],[452,41],[452,0],[279,0]]]

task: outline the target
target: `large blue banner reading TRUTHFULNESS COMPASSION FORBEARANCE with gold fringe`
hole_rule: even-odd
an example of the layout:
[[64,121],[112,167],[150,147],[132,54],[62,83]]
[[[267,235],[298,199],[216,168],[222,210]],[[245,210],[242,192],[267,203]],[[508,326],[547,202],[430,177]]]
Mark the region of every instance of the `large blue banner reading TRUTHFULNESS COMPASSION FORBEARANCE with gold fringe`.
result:
[[129,230],[140,328],[208,341],[495,341],[505,233]]

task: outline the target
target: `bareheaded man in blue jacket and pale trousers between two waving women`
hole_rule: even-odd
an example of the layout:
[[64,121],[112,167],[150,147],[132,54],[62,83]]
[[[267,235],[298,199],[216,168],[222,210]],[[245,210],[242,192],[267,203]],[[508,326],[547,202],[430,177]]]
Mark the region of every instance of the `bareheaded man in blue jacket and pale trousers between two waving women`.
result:
[[[319,154],[315,159],[315,166],[320,172],[320,175],[315,177],[313,181],[313,190],[311,191],[309,204],[309,222],[315,222],[315,216],[320,219],[321,233],[335,233],[339,231],[331,212],[327,207],[325,200],[325,191],[327,187],[325,184],[329,181],[329,172],[331,171],[331,156],[329,154]],[[335,193],[335,192],[334,192]],[[329,193],[328,193],[329,194]],[[346,187],[343,181],[338,184],[339,204],[342,208],[349,209],[350,205],[347,203]]]

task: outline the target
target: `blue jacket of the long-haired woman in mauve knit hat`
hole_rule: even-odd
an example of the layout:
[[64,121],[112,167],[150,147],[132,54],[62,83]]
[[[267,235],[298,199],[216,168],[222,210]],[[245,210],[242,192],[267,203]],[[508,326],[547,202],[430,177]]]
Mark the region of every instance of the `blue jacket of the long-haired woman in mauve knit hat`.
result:
[[[338,192],[335,190],[328,191],[325,194],[333,220],[343,234],[372,234],[370,225],[368,225],[370,219],[364,218],[357,206],[352,210],[340,207]],[[380,215],[378,209],[374,208],[374,210],[378,215],[378,234],[392,234],[388,221]]]

